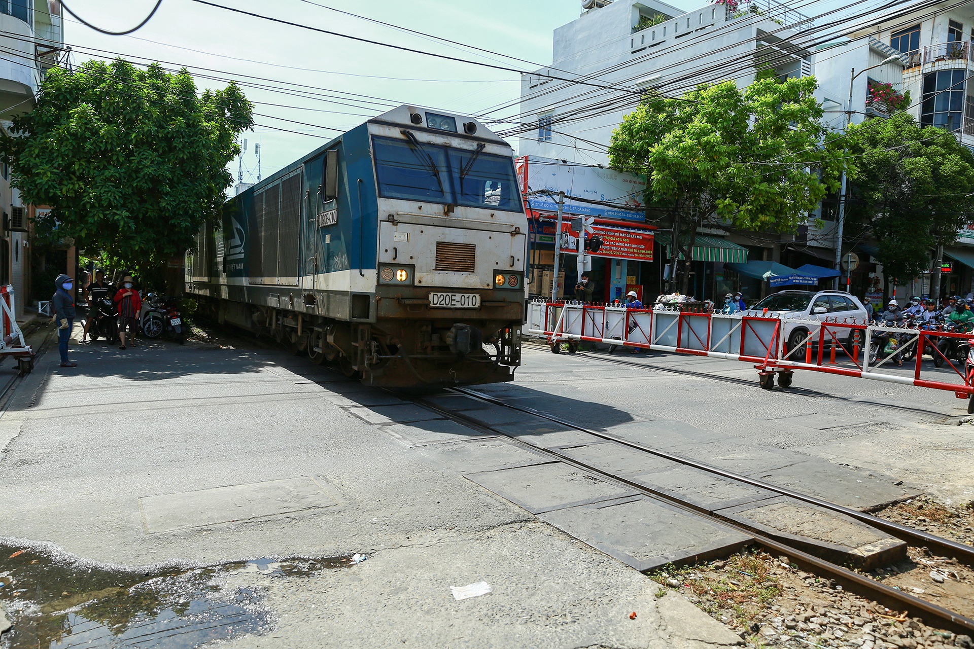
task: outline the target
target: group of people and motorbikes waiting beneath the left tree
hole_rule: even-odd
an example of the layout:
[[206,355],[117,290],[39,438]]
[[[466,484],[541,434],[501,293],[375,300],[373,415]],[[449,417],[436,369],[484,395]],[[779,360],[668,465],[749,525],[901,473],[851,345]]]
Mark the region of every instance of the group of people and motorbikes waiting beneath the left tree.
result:
[[[124,272],[115,273],[113,281],[105,279],[103,270],[94,271],[94,279],[84,272],[79,286],[88,305],[81,342],[94,343],[103,338],[107,343],[119,343],[119,349],[136,346],[136,337],[159,338],[167,335],[178,343],[185,343],[187,327],[174,298],[139,290],[135,280]],[[57,326],[61,367],[77,367],[67,355],[68,340],[76,317],[74,279],[60,274],[55,280],[56,292],[51,299],[52,316]]]

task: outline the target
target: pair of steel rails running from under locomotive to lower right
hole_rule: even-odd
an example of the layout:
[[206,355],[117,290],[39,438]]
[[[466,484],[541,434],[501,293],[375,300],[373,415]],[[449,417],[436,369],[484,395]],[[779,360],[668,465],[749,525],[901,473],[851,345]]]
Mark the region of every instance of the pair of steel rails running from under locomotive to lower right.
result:
[[[476,399],[479,399],[479,400],[482,400],[482,401],[485,401],[487,403],[491,403],[491,404],[494,404],[494,405],[497,405],[497,406],[501,406],[503,408],[507,408],[507,409],[514,410],[514,411],[517,411],[517,412],[520,412],[520,413],[524,413],[526,415],[537,415],[537,416],[541,416],[541,417],[543,417],[545,419],[548,419],[550,421],[553,421],[555,423],[561,423],[563,425],[570,426],[570,427],[575,428],[576,430],[579,430],[581,432],[589,433],[589,434],[595,435],[597,437],[602,437],[602,438],[607,439],[609,441],[614,441],[614,442],[615,441],[618,441],[618,442],[621,442],[623,444],[626,444],[626,446],[629,446],[631,448],[634,448],[634,449],[637,449],[637,450],[642,450],[642,451],[652,452],[652,453],[654,453],[656,455],[659,455],[661,457],[665,457],[667,459],[670,459],[671,458],[671,459],[673,459],[675,461],[678,461],[678,462],[687,464],[689,466],[694,466],[695,468],[700,468],[700,469],[709,471],[711,473],[715,473],[717,475],[721,475],[722,477],[728,477],[728,478],[731,478],[731,479],[734,479],[734,480],[737,479],[736,475],[735,474],[732,474],[730,472],[721,471],[719,469],[713,469],[712,467],[707,467],[706,465],[699,465],[699,464],[693,462],[692,460],[687,460],[687,458],[682,458],[682,457],[679,457],[679,456],[670,455],[669,453],[664,453],[662,451],[653,451],[653,450],[647,449],[647,448],[645,448],[645,447],[643,447],[642,445],[639,445],[639,444],[626,442],[624,440],[619,440],[618,438],[615,438],[615,436],[608,436],[608,435],[605,435],[603,433],[598,433],[598,432],[595,432],[595,431],[590,431],[590,430],[588,430],[588,429],[586,429],[586,428],[584,428],[582,426],[579,426],[577,424],[573,424],[573,423],[571,423],[569,421],[565,421],[565,420],[563,420],[563,419],[561,419],[559,417],[554,417],[554,416],[551,416],[551,415],[544,415],[543,413],[538,413],[538,412],[536,412],[536,411],[534,411],[534,410],[532,410],[530,408],[523,408],[523,407],[519,407],[519,406],[513,406],[513,405],[510,405],[510,404],[506,404],[506,403],[504,403],[504,402],[502,402],[500,400],[497,400],[497,399],[495,399],[493,397],[490,397],[490,396],[487,396],[487,395],[483,395],[483,394],[478,393],[478,392],[475,392],[473,390],[469,390],[468,388],[452,388],[452,391],[454,391],[456,393],[460,393],[460,394],[465,394],[467,396],[474,397]],[[498,436],[501,436],[501,437],[506,437],[506,438],[512,439],[515,442],[517,442],[518,444],[521,444],[521,445],[523,445],[525,447],[528,447],[528,448],[532,449],[533,451],[540,452],[543,455],[547,455],[547,456],[550,456],[550,457],[557,458],[560,461],[566,462],[567,464],[570,464],[572,466],[575,466],[577,468],[580,468],[580,469],[582,469],[584,471],[587,471],[587,472],[590,472],[590,473],[594,473],[594,474],[598,474],[598,475],[600,475],[600,476],[602,476],[604,478],[607,478],[607,479],[609,479],[611,481],[624,484],[624,485],[626,485],[628,487],[632,487],[632,488],[634,488],[634,489],[636,489],[638,491],[641,491],[643,493],[646,493],[648,495],[651,495],[651,496],[653,496],[655,498],[663,498],[663,499],[669,501],[670,503],[674,504],[675,506],[680,507],[681,509],[684,509],[684,510],[686,510],[688,512],[693,512],[694,514],[704,515],[708,519],[710,519],[711,521],[713,521],[714,523],[719,523],[719,524],[721,524],[723,526],[730,527],[730,528],[732,528],[732,529],[734,529],[734,530],[736,530],[736,531],[738,531],[740,533],[746,534],[747,536],[753,538],[758,545],[764,547],[766,550],[769,550],[769,551],[772,551],[772,552],[775,552],[775,553],[779,553],[780,555],[787,556],[788,559],[794,560],[794,562],[797,565],[799,565],[801,567],[805,567],[805,569],[807,569],[809,572],[817,572],[819,574],[821,574],[821,573],[827,573],[828,575],[830,575],[830,578],[831,579],[834,579],[837,583],[841,584],[843,586],[843,589],[846,589],[846,590],[848,590],[848,591],[850,591],[852,593],[857,593],[859,595],[867,596],[869,599],[871,599],[873,601],[876,601],[876,602],[882,604],[883,606],[885,606],[885,607],[887,607],[887,608],[889,608],[891,610],[899,611],[901,608],[905,607],[908,612],[911,611],[911,610],[912,611],[922,612],[923,614],[926,614],[927,616],[932,616],[933,618],[936,618],[937,619],[937,622],[939,624],[937,624],[937,625],[931,625],[931,626],[939,626],[940,628],[946,629],[948,631],[954,631],[954,632],[960,632],[960,633],[970,633],[970,632],[974,631],[974,620],[971,620],[970,618],[967,618],[967,617],[965,617],[963,615],[960,615],[958,613],[955,613],[954,611],[951,611],[951,610],[948,610],[948,609],[943,608],[941,606],[938,606],[938,605],[936,605],[936,604],[934,604],[934,603],[932,603],[930,601],[926,601],[925,599],[920,599],[918,597],[915,597],[914,595],[909,595],[907,593],[904,593],[902,591],[899,591],[898,589],[894,589],[894,588],[891,588],[889,586],[886,586],[885,584],[882,584],[882,583],[880,583],[878,581],[875,581],[875,580],[870,579],[868,577],[865,577],[865,576],[863,576],[861,574],[858,574],[856,572],[853,572],[852,570],[848,570],[847,568],[844,568],[843,566],[838,565],[836,563],[832,563],[831,561],[828,561],[826,559],[819,559],[818,557],[815,557],[813,555],[810,555],[810,554],[808,554],[808,553],[806,553],[806,552],[804,552],[802,550],[799,550],[797,548],[793,548],[793,547],[791,547],[791,546],[789,546],[789,545],[787,545],[785,543],[781,543],[779,541],[775,541],[775,540],[770,539],[770,538],[768,538],[768,537],[766,537],[766,536],[764,536],[762,534],[757,534],[753,530],[748,529],[748,528],[746,528],[746,527],[744,527],[742,525],[737,525],[735,523],[731,523],[729,521],[725,521],[723,519],[717,518],[711,512],[709,512],[709,511],[707,511],[707,510],[705,510],[703,508],[694,506],[693,504],[691,504],[689,502],[686,502],[686,501],[684,501],[684,500],[682,500],[682,499],[680,499],[680,498],[678,498],[676,496],[673,496],[673,495],[670,495],[670,494],[667,494],[667,493],[657,492],[657,491],[655,491],[655,490],[653,490],[653,489],[651,489],[649,487],[646,487],[645,485],[640,485],[640,484],[634,483],[632,481],[626,480],[624,477],[621,477],[621,476],[618,476],[616,474],[607,472],[605,470],[596,468],[594,466],[585,464],[584,462],[581,462],[578,459],[569,457],[567,455],[564,455],[562,453],[559,453],[558,451],[552,451],[551,449],[544,449],[543,447],[526,443],[523,440],[520,440],[518,438],[515,438],[515,437],[513,437],[511,435],[508,435],[508,434],[506,434],[506,433],[504,433],[504,432],[502,432],[500,430],[497,430],[496,428],[494,428],[494,427],[492,427],[490,425],[487,425],[487,424],[483,424],[483,423],[478,422],[471,415],[464,415],[462,412],[454,412],[454,411],[444,410],[444,409],[442,409],[442,408],[440,408],[440,407],[438,407],[438,406],[436,406],[434,404],[431,404],[430,402],[426,401],[426,399],[424,399],[423,397],[414,397],[413,398],[413,401],[416,402],[416,403],[419,403],[419,404],[423,405],[425,408],[428,408],[431,411],[434,411],[436,413],[439,413],[441,415],[444,415],[444,416],[446,416],[446,417],[448,417],[450,419],[460,420],[461,422],[463,422],[465,424],[472,424],[473,426],[475,426],[476,428],[479,428],[482,431],[486,431],[486,432],[489,432],[489,433],[494,434],[494,435],[498,435]],[[819,500],[817,498],[813,498],[812,496],[805,496],[804,494],[799,494],[798,492],[791,491],[790,489],[784,489],[782,487],[774,487],[774,486],[767,486],[766,487],[766,484],[765,483],[762,483],[761,481],[753,481],[753,480],[750,480],[750,479],[745,479],[744,482],[748,482],[748,483],[750,483],[752,485],[759,486],[759,487],[763,487],[763,488],[769,488],[771,490],[778,491],[778,492],[783,493],[785,495],[790,495],[790,494],[794,493],[797,496],[802,496],[802,499],[805,500],[806,502],[814,502],[815,504],[817,504],[818,502],[821,502],[824,505],[827,505],[829,509],[833,509],[834,511],[840,511],[842,513],[844,513],[844,511],[849,511],[849,512],[854,512],[855,511],[855,510],[848,510],[847,508],[843,508],[843,507],[841,507],[839,505],[833,505],[832,503],[826,503],[825,501],[821,501],[821,500]],[[856,512],[856,513],[857,514],[861,514],[859,512]],[[869,519],[874,519],[875,517],[868,517],[868,518]],[[880,521],[880,519],[875,519],[875,520]],[[888,523],[888,522],[884,522],[884,523]],[[917,532],[917,530],[911,530],[910,528],[903,527],[902,525],[896,525],[895,523],[889,523],[889,524],[891,524],[891,525],[893,525],[894,527],[897,527],[897,528],[905,529],[907,531]],[[917,532],[917,533],[919,533],[919,532]],[[938,539],[939,537],[931,537],[931,538]],[[953,541],[947,541],[946,539],[940,539],[940,540],[946,541],[947,543],[951,543],[951,544],[954,543]],[[974,548],[966,548],[966,546],[960,546],[959,544],[955,544],[955,545],[957,545],[958,547],[960,547],[962,549],[966,549],[968,551],[974,551]],[[924,623],[929,624],[929,622],[930,622],[929,618],[924,618]]]

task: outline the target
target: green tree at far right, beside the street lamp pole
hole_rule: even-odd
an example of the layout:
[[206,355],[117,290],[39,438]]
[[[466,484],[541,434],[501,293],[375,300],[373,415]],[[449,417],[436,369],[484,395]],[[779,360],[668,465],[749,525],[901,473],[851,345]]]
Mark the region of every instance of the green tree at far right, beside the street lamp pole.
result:
[[974,153],[943,128],[921,127],[907,113],[849,126],[846,232],[879,241],[887,280],[930,269],[940,297],[943,247],[974,222]]

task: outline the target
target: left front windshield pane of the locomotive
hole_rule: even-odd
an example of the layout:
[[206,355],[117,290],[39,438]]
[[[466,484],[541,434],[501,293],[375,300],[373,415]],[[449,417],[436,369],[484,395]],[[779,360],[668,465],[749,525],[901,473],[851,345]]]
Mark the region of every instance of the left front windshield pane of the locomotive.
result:
[[445,147],[376,137],[372,150],[383,198],[454,202]]

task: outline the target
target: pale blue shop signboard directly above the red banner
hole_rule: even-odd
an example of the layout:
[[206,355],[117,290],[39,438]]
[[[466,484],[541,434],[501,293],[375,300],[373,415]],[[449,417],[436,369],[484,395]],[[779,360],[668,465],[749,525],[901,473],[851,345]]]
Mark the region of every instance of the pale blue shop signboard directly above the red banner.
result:
[[558,192],[564,192],[562,211],[565,214],[639,223],[646,220],[643,205],[646,176],[536,156],[518,158],[515,168],[521,192],[533,210],[556,212]]

